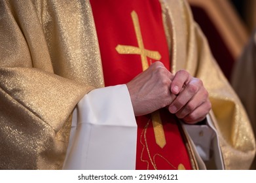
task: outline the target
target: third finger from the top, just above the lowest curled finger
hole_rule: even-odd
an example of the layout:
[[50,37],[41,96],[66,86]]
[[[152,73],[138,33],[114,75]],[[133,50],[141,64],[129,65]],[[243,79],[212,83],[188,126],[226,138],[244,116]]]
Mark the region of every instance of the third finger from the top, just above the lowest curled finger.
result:
[[190,114],[193,110],[195,110],[206,101],[208,101],[208,92],[203,88],[203,90],[199,90],[184,107],[178,110],[175,115],[177,118],[185,118],[185,116]]

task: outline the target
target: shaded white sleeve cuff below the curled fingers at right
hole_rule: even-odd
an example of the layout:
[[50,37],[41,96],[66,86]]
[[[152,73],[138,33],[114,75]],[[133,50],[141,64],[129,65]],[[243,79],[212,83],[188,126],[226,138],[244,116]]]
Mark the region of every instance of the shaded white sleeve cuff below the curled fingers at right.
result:
[[209,161],[211,154],[213,154],[217,169],[224,169],[219,137],[209,115],[206,117],[205,125],[184,124],[183,126],[187,130],[200,158],[203,161]]

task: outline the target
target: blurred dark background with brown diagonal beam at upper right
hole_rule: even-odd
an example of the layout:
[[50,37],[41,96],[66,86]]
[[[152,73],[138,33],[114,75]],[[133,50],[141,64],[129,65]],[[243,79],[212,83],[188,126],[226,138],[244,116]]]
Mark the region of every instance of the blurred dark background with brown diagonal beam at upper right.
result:
[[256,0],[188,1],[213,56],[230,80],[234,63],[256,27]]

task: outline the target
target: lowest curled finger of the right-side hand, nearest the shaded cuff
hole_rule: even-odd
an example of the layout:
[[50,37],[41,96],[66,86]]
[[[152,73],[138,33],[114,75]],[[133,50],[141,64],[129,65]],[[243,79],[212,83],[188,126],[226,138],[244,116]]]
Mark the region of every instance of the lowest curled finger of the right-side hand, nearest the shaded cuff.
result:
[[210,110],[210,101],[202,103],[200,107],[196,108],[195,110],[193,110],[193,112],[185,116],[185,118],[183,118],[183,121],[187,124],[196,124],[197,122],[201,122],[202,120],[204,120],[204,118],[206,118],[206,115],[209,113]]

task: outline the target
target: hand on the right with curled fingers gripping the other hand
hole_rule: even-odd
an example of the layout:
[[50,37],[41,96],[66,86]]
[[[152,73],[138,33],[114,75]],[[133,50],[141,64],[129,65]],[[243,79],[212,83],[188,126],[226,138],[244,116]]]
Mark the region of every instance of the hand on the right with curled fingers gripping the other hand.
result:
[[185,70],[178,71],[172,80],[171,92],[175,97],[168,110],[187,124],[196,124],[206,118],[211,110],[208,92],[202,80]]

